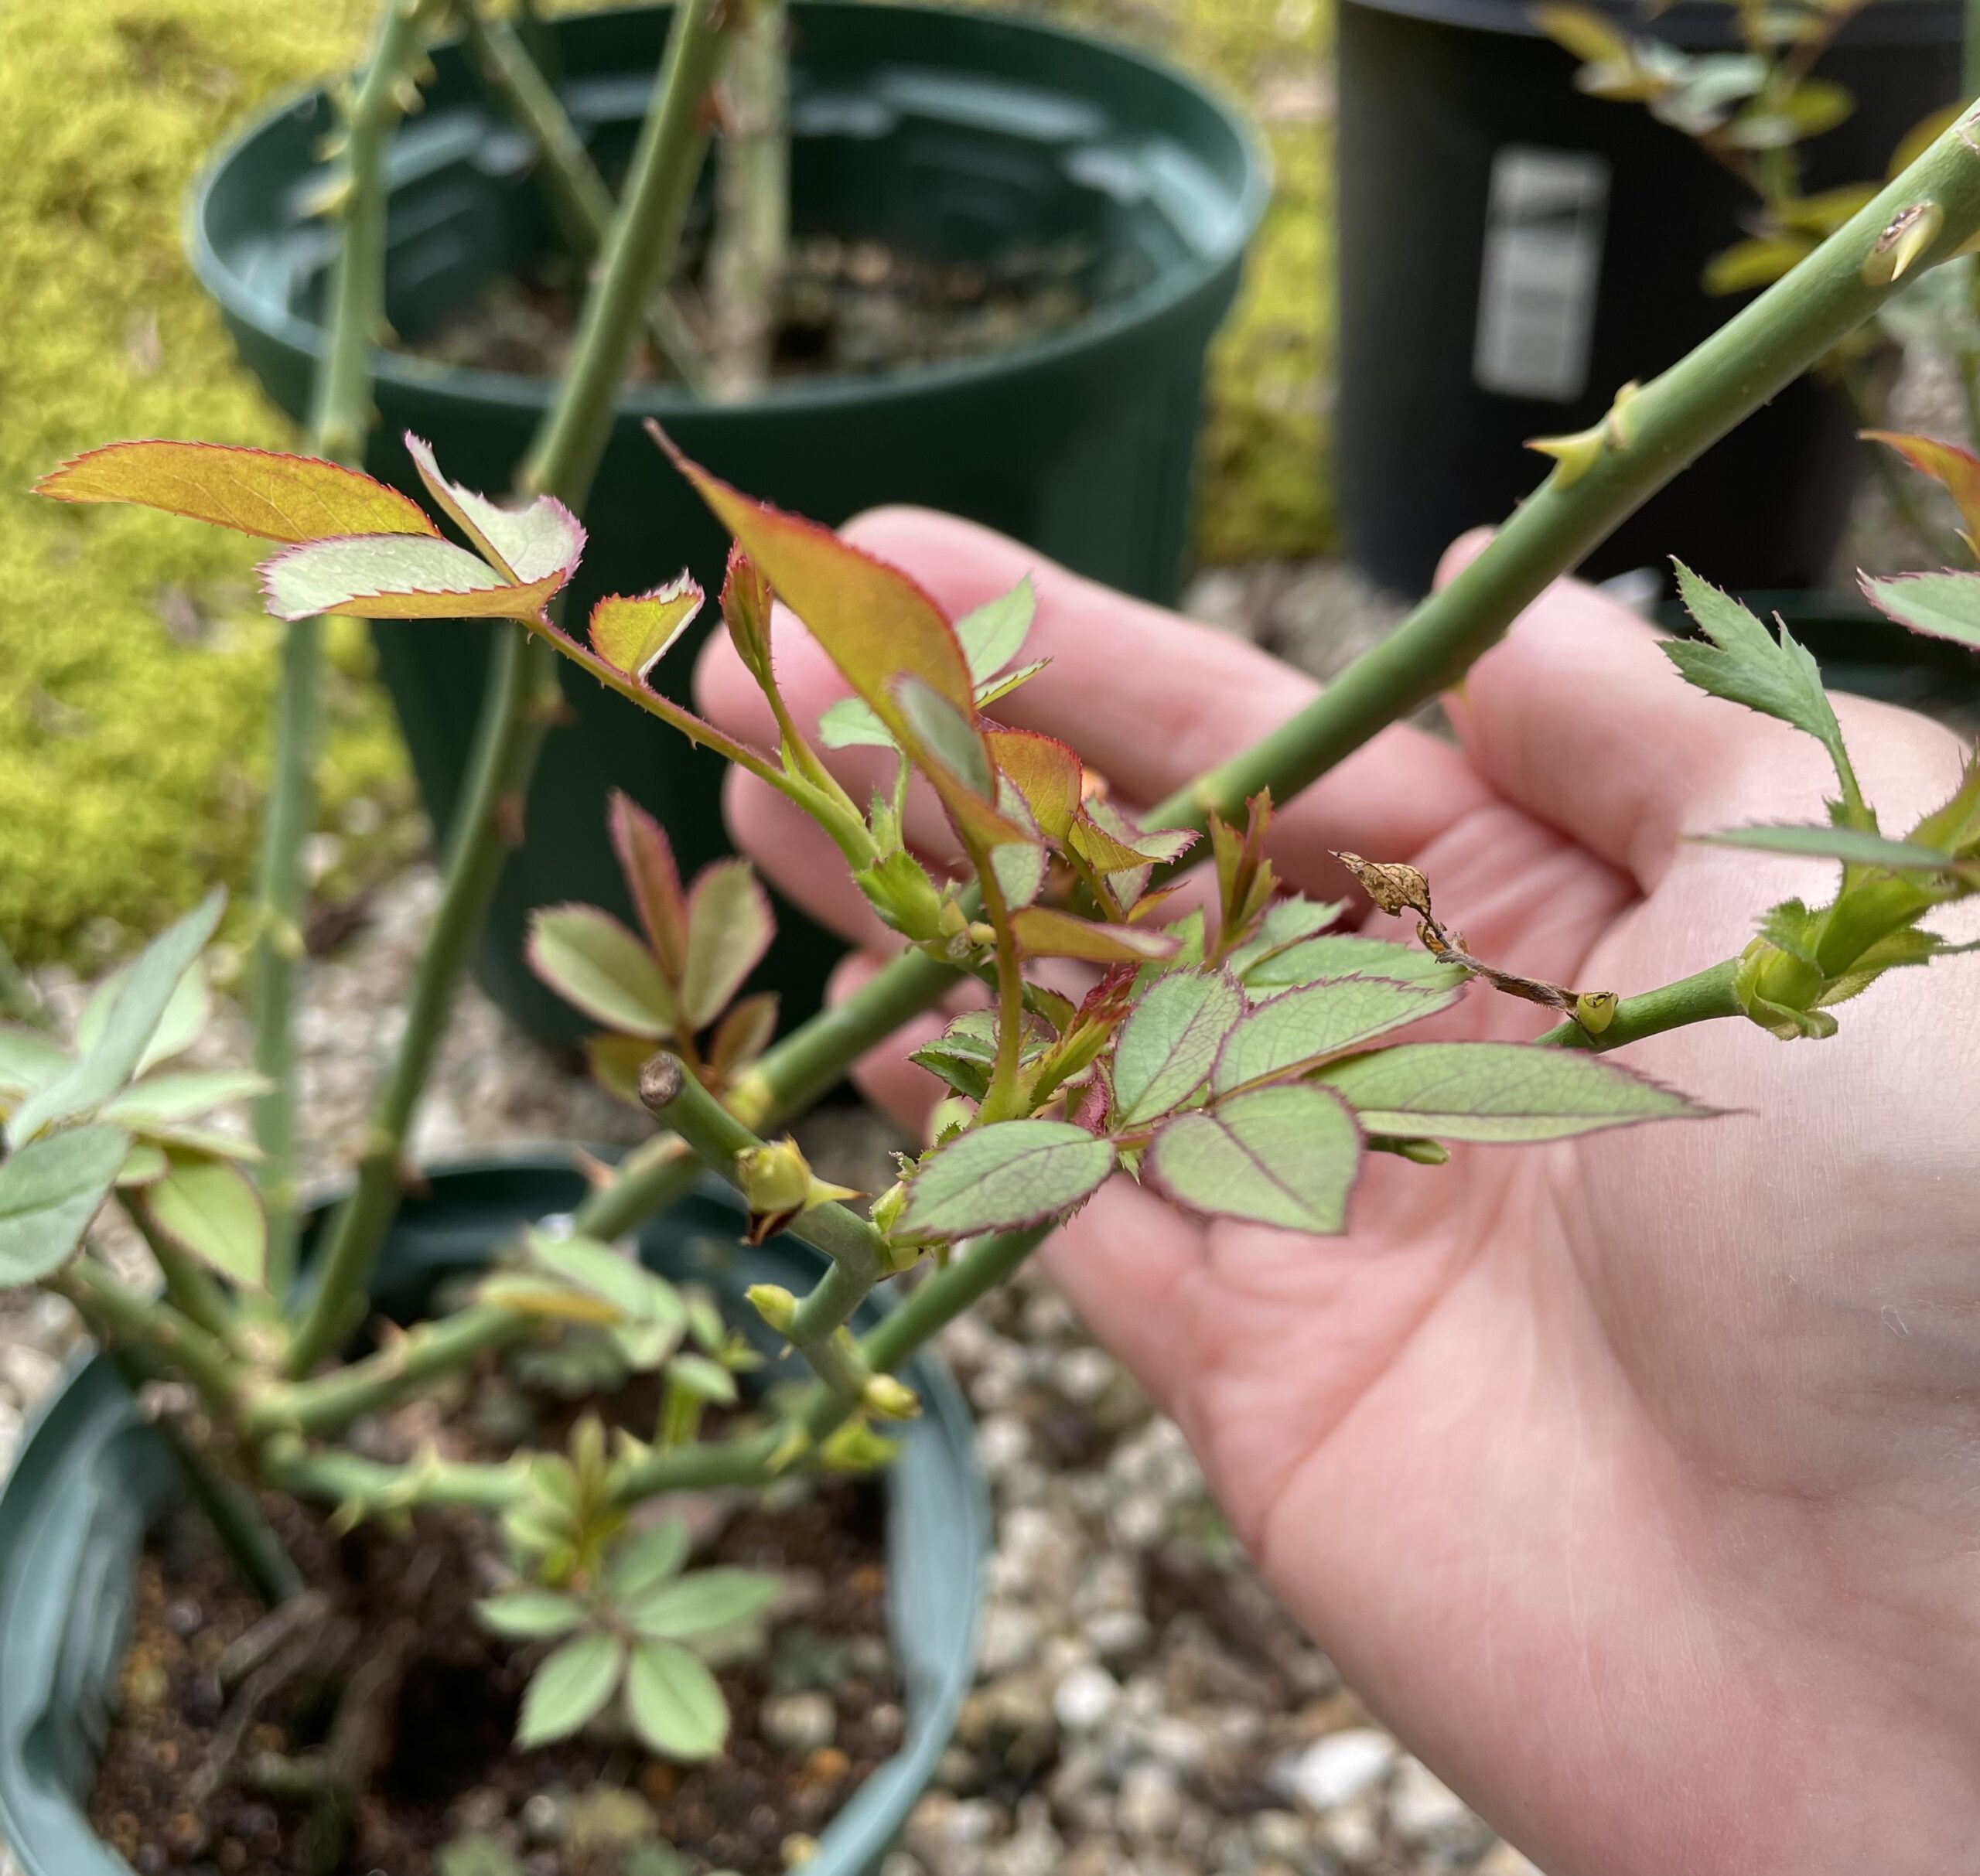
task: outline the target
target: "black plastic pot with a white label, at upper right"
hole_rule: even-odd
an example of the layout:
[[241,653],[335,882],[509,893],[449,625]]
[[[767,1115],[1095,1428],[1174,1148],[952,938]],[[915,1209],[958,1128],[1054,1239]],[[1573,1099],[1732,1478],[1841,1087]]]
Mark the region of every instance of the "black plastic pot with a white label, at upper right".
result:
[[[1729,47],[1731,8],[1620,24]],[[1855,115],[1816,139],[1810,188],[1883,176],[1950,103],[1956,0],[1873,0],[1820,67]],[[1340,505],[1356,562],[1420,594],[1453,536],[1540,481],[1533,435],[1594,423],[1616,388],[1742,303],[1699,275],[1750,198],[1641,105],[1574,89],[1525,0],[1340,0]],[[1725,586],[1822,582],[1863,469],[1843,400],[1804,378],[1628,520],[1594,578],[1679,554]]]

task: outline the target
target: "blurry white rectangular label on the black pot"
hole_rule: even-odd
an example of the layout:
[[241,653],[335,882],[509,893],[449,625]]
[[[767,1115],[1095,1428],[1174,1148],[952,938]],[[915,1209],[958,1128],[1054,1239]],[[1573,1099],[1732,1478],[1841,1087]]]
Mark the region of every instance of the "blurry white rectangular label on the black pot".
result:
[[1507,144],[1493,156],[1471,376],[1509,398],[1572,404],[1588,388],[1608,164]]

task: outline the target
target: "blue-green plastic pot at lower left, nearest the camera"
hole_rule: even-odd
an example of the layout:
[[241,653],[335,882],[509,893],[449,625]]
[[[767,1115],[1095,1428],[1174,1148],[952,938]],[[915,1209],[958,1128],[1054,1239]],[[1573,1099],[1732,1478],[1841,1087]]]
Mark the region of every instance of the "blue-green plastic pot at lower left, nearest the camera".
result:
[[[374,1302],[412,1320],[436,1284],[475,1270],[515,1229],[570,1211],[584,1179],[566,1160],[475,1160],[432,1173],[392,1231]],[[820,1259],[792,1239],[750,1249],[741,1209],[705,1185],[640,1233],[640,1253],[739,1304],[752,1282],[802,1290]],[[871,1306],[867,1320],[879,1314]],[[893,1842],[935,1771],[976,1668],[976,1621],[990,1506],[968,1407],[948,1369],[921,1354],[907,1369],[925,1413],[903,1429],[887,1472],[887,1597],[907,1692],[907,1730],[889,1759],[826,1827],[812,1876],[863,1876]],[[101,1358],[77,1363],[28,1429],[0,1484],[0,1844],[26,1876],[131,1876],[89,1830],[83,1803],[107,1737],[129,1641],[135,1565],[147,1526],[182,1492],[158,1437]]]

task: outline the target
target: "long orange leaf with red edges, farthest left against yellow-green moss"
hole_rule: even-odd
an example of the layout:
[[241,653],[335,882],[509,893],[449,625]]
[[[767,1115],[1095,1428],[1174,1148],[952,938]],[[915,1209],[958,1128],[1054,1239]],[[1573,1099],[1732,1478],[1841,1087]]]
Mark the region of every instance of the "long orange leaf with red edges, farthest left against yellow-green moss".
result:
[[416,501],[356,469],[230,443],[107,443],[51,469],[34,491],[158,509],[263,540],[440,534]]

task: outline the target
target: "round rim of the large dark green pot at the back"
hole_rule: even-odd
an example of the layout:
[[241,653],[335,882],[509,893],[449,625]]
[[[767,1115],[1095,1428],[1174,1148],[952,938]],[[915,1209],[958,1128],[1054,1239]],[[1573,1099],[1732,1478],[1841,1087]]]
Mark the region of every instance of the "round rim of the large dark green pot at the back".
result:
[[[1119,338],[1142,327],[1156,325],[1168,315],[1188,305],[1196,295],[1214,287],[1228,271],[1236,269],[1251,243],[1257,224],[1271,200],[1271,164],[1259,133],[1218,95],[1166,63],[1129,46],[1095,34],[1071,32],[1059,26],[1043,26],[1036,20],[994,10],[962,12],[952,6],[929,4],[889,4],[873,8],[867,0],[794,0],[800,12],[838,14],[843,18],[897,18],[921,16],[948,22],[962,32],[1022,34],[1034,40],[1061,42],[1085,47],[1101,59],[1111,59],[1127,67],[1137,67],[1158,83],[1174,87],[1190,97],[1198,107],[1212,113],[1220,129],[1230,137],[1232,146],[1243,160],[1241,186],[1228,198],[1232,204],[1230,230],[1214,249],[1192,253],[1186,261],[1160,267],[1152,281],[1125,299],[1099,307],[1079,319],[1063,332],[1034,338],[1008,350],[990,352],[982,358],[946,360],[940,364],[917,364],[891,372],[849,374],[834,372],[818,378],[794,378],[774,382],[760,396],[741,404],[709,404],[683,386],[640,384],[624,386],[614,404],[618,423],[657,418],[661,422],[681,418],[721,416],[727,422],[748,422],[752,418],[776,420],[792,412],[830,412],[843,406],[875,406],[903,398],[923,398],[948,390],[966,390],[1014,370],[1049,368],[1077,362],[1093,352],[1113,346]],[[1911,0],[1929,4],[1929,0]],[[630,6],[604,6],[580,14],[564,14],[548,24],[556,28],[568,20],[592,20],[610,14],[663,12],[671,0],[651,4],[636,0]],[[446,42],[453,47],[459,42]],[[251,293],[242,277],[226,263],[218,245],[208,234],[212,198],[222,180],[232,172],[248,146],[261,137],[277,119],[315,103],[327,91],[325,85],[297,85],[277,93],[275,99],[255,113],[240,131],[226,139],[218,154],[200,170],[186,200],[184,249],[192,261],[192,271],[200,285],[214,297],[230,321],[263,334],[305,358],[319,358],[325,348],[327,330],[315,321],[303,319],[285,309],[273,309],[267,299]],[[1220,309],[1222,311],[1222,309]],[[372,354],[372,372],[378,390],[400,392],[426,398],[455,398],[471,404],[493,404],[523,412],[546,410],[554,394],[556,380],[533,378],[521,372],[491,372],[469,366],[438,366],[408,352],[378,348]]]

